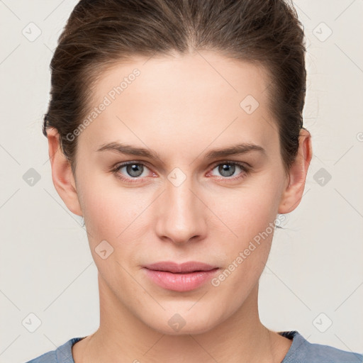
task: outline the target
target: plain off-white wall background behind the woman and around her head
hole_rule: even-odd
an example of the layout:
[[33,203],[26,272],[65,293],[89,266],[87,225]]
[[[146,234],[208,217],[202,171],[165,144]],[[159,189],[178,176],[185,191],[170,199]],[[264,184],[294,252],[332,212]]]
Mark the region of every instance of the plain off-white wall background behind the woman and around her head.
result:
[[[99,326],[82,218],[55,191],[41,133],[52,51],[76,3],[0,1],[0,362],[26,362]],[[362,353],[363,1],[294,4],[308,38],[304,126],[314,156],[300,205],[274,235],[260,318],[272,330]],[[41,30],[34,41],[22,33],[36,35],[30,22]],[[33,186],[23,179],[30,168],[40,175]],[[30,313],[41,320],[33,333]]]

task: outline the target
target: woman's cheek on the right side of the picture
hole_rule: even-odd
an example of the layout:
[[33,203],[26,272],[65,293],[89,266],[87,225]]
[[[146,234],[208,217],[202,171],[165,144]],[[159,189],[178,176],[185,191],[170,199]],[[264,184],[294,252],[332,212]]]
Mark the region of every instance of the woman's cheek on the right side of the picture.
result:
[[[277,216],[277,192],[269,185],[246,188],[215,199],[212,208],[228,229],[219,235],[225,252],[225,278],[222,289],[249,291],[267,262]],[[223,206],[223,207],[222,207]],[[228,206],[228,208],[227,208]],[[218,249],[218,247],[217,247]],[[218,281],[216,281],[218,284]],[[221,284],[222,285],[222,284]]]

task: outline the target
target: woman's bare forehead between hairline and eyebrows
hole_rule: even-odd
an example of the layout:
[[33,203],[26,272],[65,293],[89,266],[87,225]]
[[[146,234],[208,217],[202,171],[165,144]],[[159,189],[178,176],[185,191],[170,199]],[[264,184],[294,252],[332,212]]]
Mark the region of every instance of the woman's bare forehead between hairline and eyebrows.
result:
[[147,138],[184,148],[240,141],[268,147],[277,140],[268,85],[262,67],[216,52],[135,57],[99,74],[90,106],[103,109],[84,133],[97,145],[127,137],[139,145]]

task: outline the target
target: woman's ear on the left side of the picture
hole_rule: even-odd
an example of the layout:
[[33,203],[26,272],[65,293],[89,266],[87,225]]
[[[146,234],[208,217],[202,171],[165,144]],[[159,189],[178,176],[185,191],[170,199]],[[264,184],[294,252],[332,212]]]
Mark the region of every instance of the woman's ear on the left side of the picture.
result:
[[60,135],[55,128],[47,130],[52,180],[65,205],[77,216],[82,216],[74,176],[69,161],[60,147]]

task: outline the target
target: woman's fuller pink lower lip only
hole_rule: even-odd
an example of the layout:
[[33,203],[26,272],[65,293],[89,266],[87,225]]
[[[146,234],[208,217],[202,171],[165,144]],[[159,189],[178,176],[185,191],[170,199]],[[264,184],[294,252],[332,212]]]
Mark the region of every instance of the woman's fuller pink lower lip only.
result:
[[172,272],[155,271],[145,268],[147,276],[155,284],[172,291],[191,291],[210,280],[218,268],[210,271],[196,271],[189,274],[173,274]]

